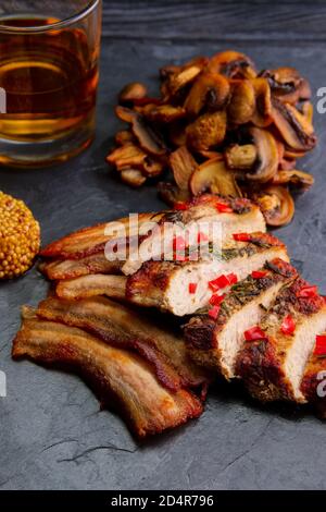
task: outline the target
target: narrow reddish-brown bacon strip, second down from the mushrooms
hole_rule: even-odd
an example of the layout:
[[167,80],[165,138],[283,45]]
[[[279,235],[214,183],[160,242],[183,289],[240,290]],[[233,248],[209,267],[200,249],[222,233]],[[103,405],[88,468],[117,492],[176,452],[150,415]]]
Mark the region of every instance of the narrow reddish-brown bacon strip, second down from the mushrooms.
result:
[[104,253],[92,254],[82,259],[54,259],[42,261],[39,270],[51,281],[74,279],[90,273],[118,273],[123,261],[109,261]]

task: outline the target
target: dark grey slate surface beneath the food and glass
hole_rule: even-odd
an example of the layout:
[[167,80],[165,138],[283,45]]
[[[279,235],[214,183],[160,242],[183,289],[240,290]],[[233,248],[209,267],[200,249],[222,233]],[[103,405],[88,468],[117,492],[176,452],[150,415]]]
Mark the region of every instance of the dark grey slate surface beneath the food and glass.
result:
[[[167,62],[229,48],[260,68],[294,65],[314,97],[326,85],[324,2],[104,2],[97,139],[74,161],[48,170],[0,171],[0,187],[33,208],[45,243],[77,228],[161,208],[155,190],[130,191],[108,171],[104,156],[118,127],[113,115],[125,82],[146,80]],[[315,114],[318,148],[300,167],[316,178],[278,234],[304,277],[326,293],[325,117]],[[139,446],[123,422],[99,412],[78,378],[28,362],[13,363],[20,306],[36,305],[47,284],[35,271],[0,284],[1,489],[317,489],[325,488],[326,426],[288,406],[263,407],[240,387],[218,383],[203,416]]]

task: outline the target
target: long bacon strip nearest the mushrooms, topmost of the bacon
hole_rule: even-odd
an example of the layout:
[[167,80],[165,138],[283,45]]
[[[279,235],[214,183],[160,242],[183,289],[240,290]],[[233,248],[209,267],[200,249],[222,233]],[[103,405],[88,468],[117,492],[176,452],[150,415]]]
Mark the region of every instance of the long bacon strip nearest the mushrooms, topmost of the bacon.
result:
[[[141,224],[149,221],[159,222],[163,216],[164,214],[139,214],[135,218],[124,217],[112,222],[85,228],[48,245],[40,252],[40,256],[80,259],[102,252],[110,240],[137,235],[138,228]],[[112,235],[105,234],[110,228],[112,229]]]

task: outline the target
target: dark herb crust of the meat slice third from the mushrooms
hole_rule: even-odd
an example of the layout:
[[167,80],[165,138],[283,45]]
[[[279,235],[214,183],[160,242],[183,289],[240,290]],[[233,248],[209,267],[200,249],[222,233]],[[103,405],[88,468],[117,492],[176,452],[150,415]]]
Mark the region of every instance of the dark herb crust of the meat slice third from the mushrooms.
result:
[[200,315],[193,316],[185,326],[185,339],[193,361],[222,371],[218,333],[222,332],[231,316],[246,306],[246,304],[259,297],[262,292],[269,289],[273,284],[279,282],[287,283],[298,275],[291,265],[279,258],[266,263],[265,268],[271,271],[262,279],[253,279],[249,276],[247,279],[233,285],[230,292],[221,304],[216,319],[211,318],[208,315],[208,310],[205,310]]

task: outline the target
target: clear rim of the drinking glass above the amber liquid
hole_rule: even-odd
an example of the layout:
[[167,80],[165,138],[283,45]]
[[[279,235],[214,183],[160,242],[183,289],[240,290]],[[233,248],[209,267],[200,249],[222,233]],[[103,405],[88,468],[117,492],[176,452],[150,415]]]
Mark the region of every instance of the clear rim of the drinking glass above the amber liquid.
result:
[[[95,9],[100,4],[101,0],[91,0],[88,4],[79,12],[72,14],[64,20],[59,22],[49,23],[49,25],[36,25],[36,26],[14,26],[14,25],[1,25],[0,21],[0,34],[37,34],[50,31],[58,31],[60,28],[65,28],[66,26],[73,25],[74,23],[84,20],[89,14],[95,11]],[[4,19],[5,20],[5,19]],[[9,19],[10,20],[10,19]]]

